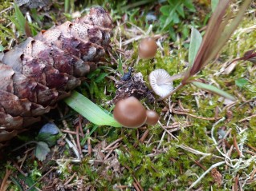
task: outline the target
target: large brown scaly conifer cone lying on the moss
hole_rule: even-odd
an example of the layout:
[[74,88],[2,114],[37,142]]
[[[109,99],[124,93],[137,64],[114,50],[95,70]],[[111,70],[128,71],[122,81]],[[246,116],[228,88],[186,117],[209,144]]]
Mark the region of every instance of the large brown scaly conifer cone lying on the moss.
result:
[[95,70],[111,30],[108,13],[94,7],[87,16],[44,30],[0,54],[0,148]]

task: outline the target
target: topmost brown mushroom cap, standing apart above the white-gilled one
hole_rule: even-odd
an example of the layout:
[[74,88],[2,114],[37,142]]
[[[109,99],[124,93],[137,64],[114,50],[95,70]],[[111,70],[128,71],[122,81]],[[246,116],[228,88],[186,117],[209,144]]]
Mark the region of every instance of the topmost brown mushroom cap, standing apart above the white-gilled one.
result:
[[156,40],[153,38],[144,38],[139,44],[139,57],[148,59],[154,58],[157,51]]

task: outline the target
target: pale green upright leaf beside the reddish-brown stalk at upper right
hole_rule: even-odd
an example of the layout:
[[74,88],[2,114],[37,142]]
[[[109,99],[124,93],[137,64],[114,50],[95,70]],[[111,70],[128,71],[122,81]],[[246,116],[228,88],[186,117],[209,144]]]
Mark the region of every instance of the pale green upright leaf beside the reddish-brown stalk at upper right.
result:
[[190,36],[190,44],[189,44],[189,66],[193,66],[193,62],[197,56],[197,52],[199,47],[201,46],[201,34],[198,30],[194,27],[191,29],[191,36]]

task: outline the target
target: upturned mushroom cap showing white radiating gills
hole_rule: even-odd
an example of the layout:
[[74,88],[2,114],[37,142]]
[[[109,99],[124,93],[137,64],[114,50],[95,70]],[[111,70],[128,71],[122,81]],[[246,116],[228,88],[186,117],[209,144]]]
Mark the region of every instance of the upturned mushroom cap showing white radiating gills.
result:
[[161,97],[165,97],[173,90],[173,79],[164,69],[152,71],[148,79],[152,90]]

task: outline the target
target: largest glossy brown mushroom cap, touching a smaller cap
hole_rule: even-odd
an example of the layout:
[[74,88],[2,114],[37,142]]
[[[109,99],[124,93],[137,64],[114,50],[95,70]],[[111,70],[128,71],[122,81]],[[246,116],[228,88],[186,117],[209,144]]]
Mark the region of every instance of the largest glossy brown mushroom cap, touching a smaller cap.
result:
[[113,115],[116,121],[128,128],[140,127],[147,119],[146,109],[136,97],[118,101]]

